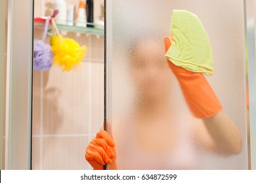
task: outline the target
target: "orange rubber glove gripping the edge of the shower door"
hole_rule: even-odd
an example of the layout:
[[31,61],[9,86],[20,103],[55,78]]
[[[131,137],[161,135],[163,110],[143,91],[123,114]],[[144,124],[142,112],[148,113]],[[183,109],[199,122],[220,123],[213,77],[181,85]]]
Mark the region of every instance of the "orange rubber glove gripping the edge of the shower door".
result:
[[115,158],[114,146],[115,142],[109,133],[101,129],[87,146],[85,159],[94,170],[103,170],[105,163],[113,163],[112,159]]

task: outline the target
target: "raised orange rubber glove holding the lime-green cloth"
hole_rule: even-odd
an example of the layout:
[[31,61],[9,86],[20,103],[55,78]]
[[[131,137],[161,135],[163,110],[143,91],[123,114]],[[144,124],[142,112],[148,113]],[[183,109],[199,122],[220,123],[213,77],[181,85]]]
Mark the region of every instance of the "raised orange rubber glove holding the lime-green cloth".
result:
[[[172,45],[169,37],[164,37],[166,52]],[[168,65],[179,81],[183,95],[197,118],[210,118],[222,109],[219,99],[211,89],[210,84],[202,73],[187,71],[168,60]]]

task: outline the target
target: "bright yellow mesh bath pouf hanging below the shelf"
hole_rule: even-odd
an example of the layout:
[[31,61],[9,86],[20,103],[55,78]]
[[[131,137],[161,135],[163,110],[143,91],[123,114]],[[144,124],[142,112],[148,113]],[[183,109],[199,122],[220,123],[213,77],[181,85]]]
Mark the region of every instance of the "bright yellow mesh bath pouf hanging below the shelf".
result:
[[87,46],[80,46],[75,40],[61,35],[52,35],[50,46],[54,54],[53,65],[59,65],[62,71],[70,71],[77,67],[82,58],[87,56]]

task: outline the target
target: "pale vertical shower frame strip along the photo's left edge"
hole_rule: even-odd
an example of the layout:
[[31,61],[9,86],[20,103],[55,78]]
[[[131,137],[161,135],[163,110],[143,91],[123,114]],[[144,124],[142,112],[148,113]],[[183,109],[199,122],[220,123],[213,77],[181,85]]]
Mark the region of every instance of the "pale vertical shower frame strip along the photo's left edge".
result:
[[31,169],[33,1],[0,4],[1,168]]

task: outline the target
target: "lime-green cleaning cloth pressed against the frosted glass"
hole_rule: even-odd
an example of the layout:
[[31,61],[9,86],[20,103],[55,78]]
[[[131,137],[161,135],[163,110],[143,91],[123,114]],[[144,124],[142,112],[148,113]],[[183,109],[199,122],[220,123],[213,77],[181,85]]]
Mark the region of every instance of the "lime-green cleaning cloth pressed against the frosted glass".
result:
[[179,67],[212,75],[211,44],[198,17],[187,10],[173,10],[170,31],[172,46],[165,56]]

